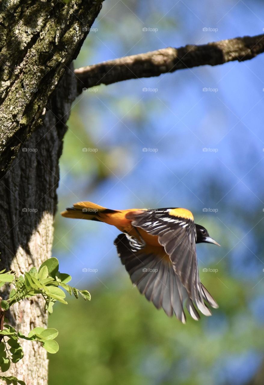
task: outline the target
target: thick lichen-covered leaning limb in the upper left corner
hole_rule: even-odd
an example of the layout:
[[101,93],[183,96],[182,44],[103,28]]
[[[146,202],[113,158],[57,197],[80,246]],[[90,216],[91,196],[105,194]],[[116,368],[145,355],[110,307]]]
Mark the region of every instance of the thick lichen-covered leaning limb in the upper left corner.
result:
[[14,0],[0,13],[0,171],[43,123],[43,110],[79,53],[102,1]]

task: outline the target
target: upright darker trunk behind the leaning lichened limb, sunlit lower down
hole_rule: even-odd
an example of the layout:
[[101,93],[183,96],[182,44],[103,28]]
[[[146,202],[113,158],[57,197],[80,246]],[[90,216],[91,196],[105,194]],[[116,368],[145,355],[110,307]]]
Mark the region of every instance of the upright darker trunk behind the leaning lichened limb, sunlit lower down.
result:
[[[58,160],[76,80],[67,70],[52,95],[44,124],[22,144],[12,167],[1,180],[0,228],[1,269],[18,275],[51,256],[53,218],[57,206]],[[27,333],[47,327],[42,298],[21,301],[7,312],[10,324]],[[37,342],[22,341],[24,358],[11,364],[5,375],[15,375],[27,385],[47,383],[47,352]]]

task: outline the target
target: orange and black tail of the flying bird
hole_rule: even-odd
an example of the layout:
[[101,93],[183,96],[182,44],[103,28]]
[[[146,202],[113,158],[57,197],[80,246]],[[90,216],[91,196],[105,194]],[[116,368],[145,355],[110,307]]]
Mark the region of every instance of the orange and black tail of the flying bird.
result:
[[74,203],[74,207],[67,208],[60,214],[65,218],[90,219],[92,221],[98,221],[99,219],[97,217],[99,213],[110,214],[115,213],[115,210],[107,209],[92,202],[78,202]]

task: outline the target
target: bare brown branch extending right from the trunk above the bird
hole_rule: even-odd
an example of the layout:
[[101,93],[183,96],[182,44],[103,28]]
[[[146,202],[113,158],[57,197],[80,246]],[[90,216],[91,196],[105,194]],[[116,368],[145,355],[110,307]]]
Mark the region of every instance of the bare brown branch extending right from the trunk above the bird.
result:
[[234,60],[249,60],[264,52],[264,34],[237,37],[203,45],[165,48],[145,54],[125,56],[75,70],[79,92],[99,84],[122,80],[159,76],[166,72],[217,65]]

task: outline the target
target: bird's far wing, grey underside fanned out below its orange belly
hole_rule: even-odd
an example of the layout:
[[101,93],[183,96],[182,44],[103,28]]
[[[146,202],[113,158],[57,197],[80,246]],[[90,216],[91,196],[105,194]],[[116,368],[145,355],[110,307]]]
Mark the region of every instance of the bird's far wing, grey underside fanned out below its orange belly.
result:
[[190,315],[199,320],[199,313],[163,247],[140,244],[128,234],[119,234],[114,244],[132,283],[157,309],[162,307],[168,316],[175,313],[178,320],[185,323],[183,302],[186,300],[185,306]]

